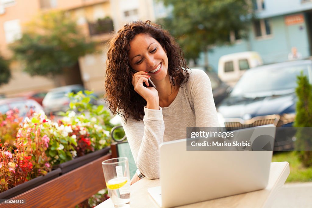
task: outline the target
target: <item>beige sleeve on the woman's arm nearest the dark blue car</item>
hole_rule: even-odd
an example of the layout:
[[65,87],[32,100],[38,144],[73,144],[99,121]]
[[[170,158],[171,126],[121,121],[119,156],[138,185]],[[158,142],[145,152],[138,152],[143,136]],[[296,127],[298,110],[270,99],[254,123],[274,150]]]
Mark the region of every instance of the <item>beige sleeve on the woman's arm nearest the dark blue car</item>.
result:
[[210,79],[201,70],[193,70],[193,72],[196,72],[197,76],[193,77],[193,84],[190,86],[190,96],[194,104],[196,126],[217,127],[219,122],[213,101]]

